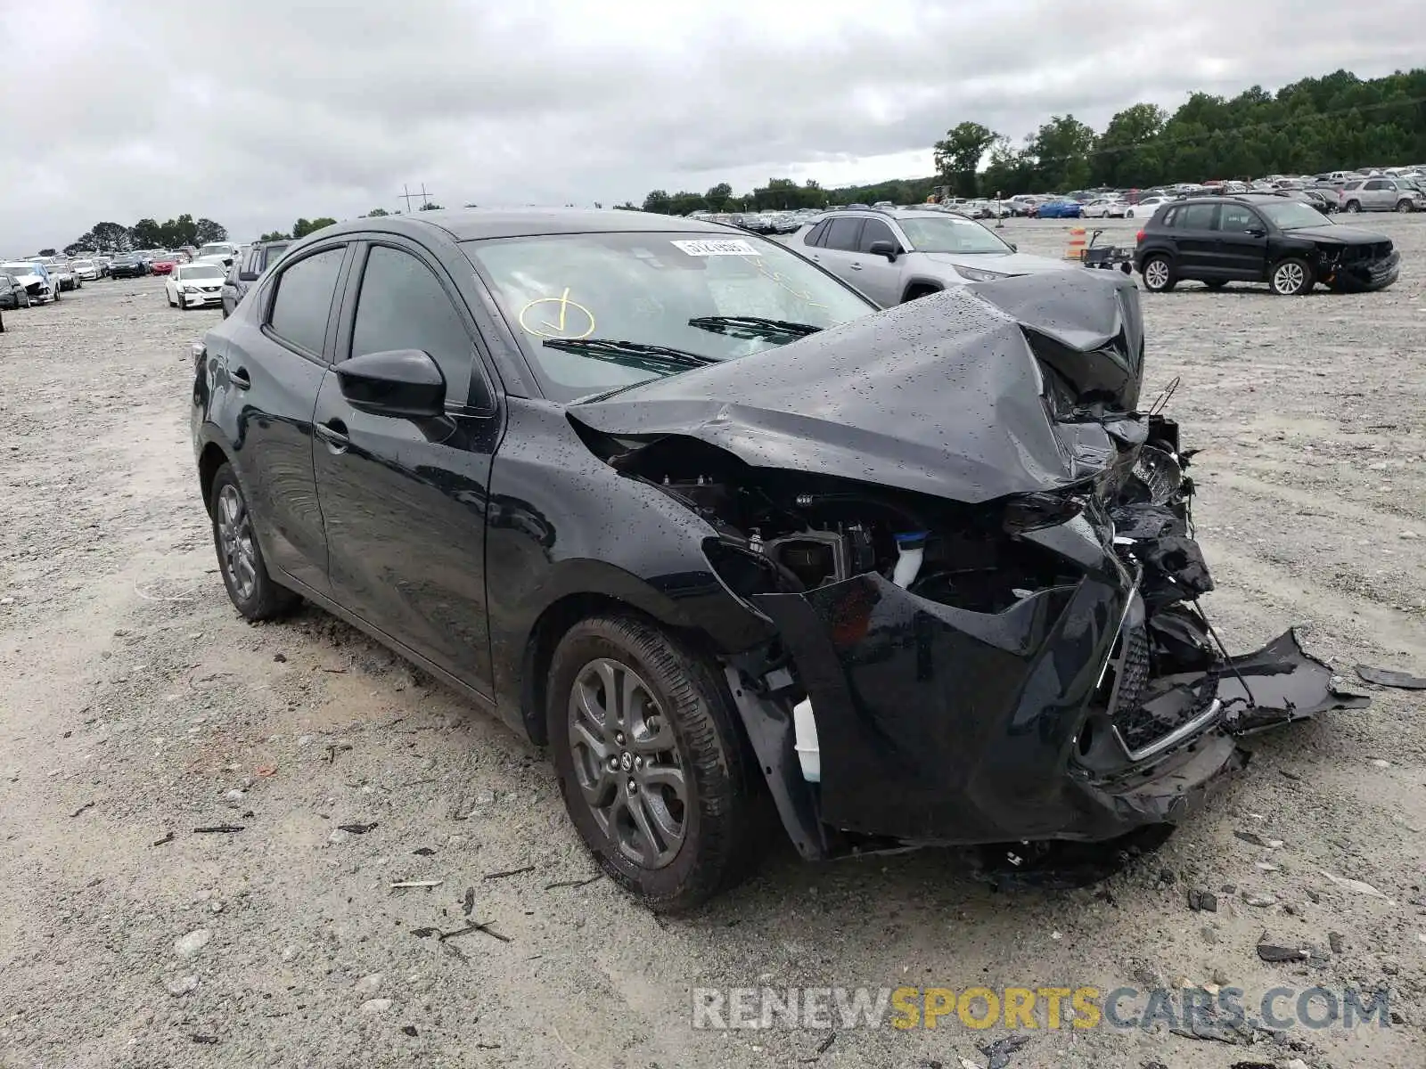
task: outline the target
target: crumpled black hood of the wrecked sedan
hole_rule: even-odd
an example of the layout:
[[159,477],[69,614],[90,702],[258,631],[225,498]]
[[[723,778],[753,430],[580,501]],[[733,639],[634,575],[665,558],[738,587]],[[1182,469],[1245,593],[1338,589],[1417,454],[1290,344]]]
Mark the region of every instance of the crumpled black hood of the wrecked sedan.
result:
[[1087,403],[1132,410],[1142,353],[1132,279],[1060,271],[934,294],[570,405],[569,418],[623,439],[696,438],[754,468],[977,503],[1065,486],[1114,456],[1099,423],[1051,419],[1042,365]]

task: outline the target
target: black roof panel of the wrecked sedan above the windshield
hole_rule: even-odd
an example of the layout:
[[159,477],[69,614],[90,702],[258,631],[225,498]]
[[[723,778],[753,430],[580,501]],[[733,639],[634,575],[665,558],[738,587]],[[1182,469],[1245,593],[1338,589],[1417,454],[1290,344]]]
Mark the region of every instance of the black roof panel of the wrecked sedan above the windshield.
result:
[[[757,212],[743,212],[756,215]],[[351,220],[329,227],[321,234],[338,235],[362,231],[406,234],[419,237],[432,229],[443,231],[455,241],[481,238],[525,238],[543,234],[617,234],[620,231],[704,231],[727,234],[720,222],[689,220],[682,215],[659,215],[647,211],[619,208],[452,208],[414,212],[411,215],[378,215]]]

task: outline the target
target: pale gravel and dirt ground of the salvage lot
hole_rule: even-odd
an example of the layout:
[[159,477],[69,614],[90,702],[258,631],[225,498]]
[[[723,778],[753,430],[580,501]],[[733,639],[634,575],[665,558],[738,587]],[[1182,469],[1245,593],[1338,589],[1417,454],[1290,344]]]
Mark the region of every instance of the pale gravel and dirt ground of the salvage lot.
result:
[[[1209,610],[1229,647],[1296,623],[1345,674],[1423,673],[1426,217],[1369,225],[1406,261],[1385,294],[1145,296],[1149,386],[1182,376],[1172,410],[1205,448]],[[1132,242],[1132,224],[1109,227]],[[1041,252],[1065,229],[1007,227]],[[506,730],[319,611],[237,617],[187,430],[187,346],[217,321],[167,308],[151,279],[6,314],[0,1065],[819,1058],[830,1032],[693,1031],[692,988],[760,983],[1215,983],[1249,1012],[1276,986],[1386,988],[1385,1029],[1299,1026],[1251,1050],[1041,1029],[1010,1063],[1422,1065],[1422,694],[1360,684],[1369,708],[1253,740],[1225,798],[1101,888],[1007,895],[948,854],[807,867],[776,848],[753,882],[659,922],[607,881],[548,887],[595,869],[549,765]],[[241,831],[194,831],[215,825]],[[441,882],[394,892],[401,879]],[[503,939],[425,931],[466,924],[466,888]],[[1189,911],[1189,889],[1216,912]],[[1263,932],[1312,959],[1265,964]],[[977,1043],[1002,1035],[954,1015],[838,1028],[819,1065],[985,1065]]]

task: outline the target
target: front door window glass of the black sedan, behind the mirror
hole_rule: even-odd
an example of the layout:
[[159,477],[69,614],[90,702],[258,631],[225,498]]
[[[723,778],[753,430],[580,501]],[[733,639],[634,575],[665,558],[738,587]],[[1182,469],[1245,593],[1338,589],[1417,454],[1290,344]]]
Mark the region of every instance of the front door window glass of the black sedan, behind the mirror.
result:
[[429,355],[445,375],[446,401],[466,403],[475,346],[445,286],[409,252],[374,245],[356,299],[352,356],[392,349]]

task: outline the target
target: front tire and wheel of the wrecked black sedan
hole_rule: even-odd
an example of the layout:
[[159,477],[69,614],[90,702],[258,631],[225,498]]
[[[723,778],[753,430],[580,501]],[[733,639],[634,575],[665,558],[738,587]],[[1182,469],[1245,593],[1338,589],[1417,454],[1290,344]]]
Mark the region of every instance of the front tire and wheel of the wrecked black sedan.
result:
[[653,623],[596,616],[560,640],[548,694],[565,807],[610,879],[677,912],[746,872],[757,770],[707,660]]

